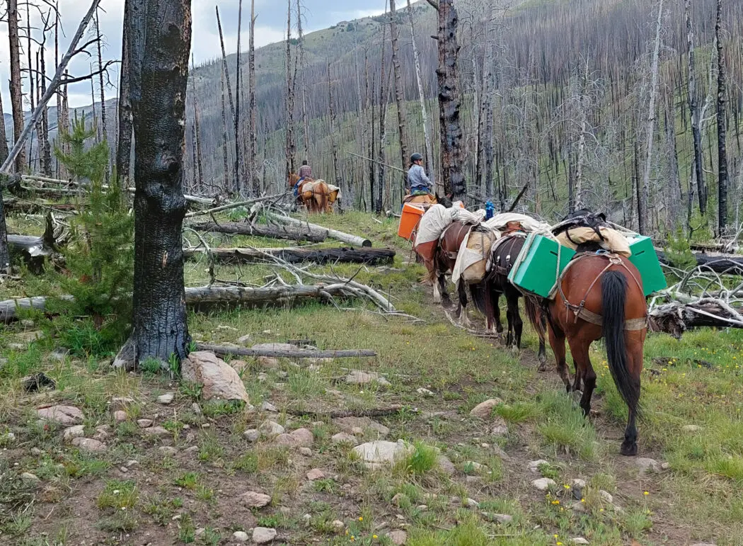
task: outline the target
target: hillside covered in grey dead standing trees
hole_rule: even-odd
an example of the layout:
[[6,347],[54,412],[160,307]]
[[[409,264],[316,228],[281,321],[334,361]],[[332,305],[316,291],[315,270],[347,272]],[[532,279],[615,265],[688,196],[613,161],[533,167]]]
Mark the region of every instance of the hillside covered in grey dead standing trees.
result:
[[[687,106],[688,77],[686,68],[686,27],[683,3],[668,4],[663,14],[661,32],[661,77],[658,86],[658,115],[655,126],[655,149],[652,161],[652,188],[649,190],[649,213],[654,231],[677,227],[683,216],[679,208],[688,200],[691,165],[690,117]],[[461,118],[464,129],[466,173],[473,202],[492,197],[507,204],[522,187],[528,191],[522,205],[545,216],[559,216],[565,211],[568,179],[574,177],[577,162],[577,124],[580,115],[580,94],[587,121],[588,149],[583,160],[583,176],[590,185],[588,204],[614,213],[614,218],[634,225],[636,203],[633,204],[635,182],[635,145],[643,153],[637,157],[643,167],[645,160],[645,129],[649,102],[649,57],[655,35],[655,2],[640,0],[579,0],[515,2],[513,7],[496,12],[496,32],[484,25],[487,2],[461,0],[459,66],[464,104]],[[713,0],[692,3],[697,48],[696,78],[699,102],[707,94],[715,98],[714,86],[708,86],[710,52],[714,33]],[[435,11],[425,1],[413,6],[416,42],[421,54],[421,71],[429,117],[435,133],[438,131],[436,97],[437,65]],[[424,138],[418,102],[418,86],[413,69],[412,45],[407,10],[398,10],[400,32],[400,62],[406,96],[409,147],[423,150]],[[741,51],[743,5],[726,4],[725,48],[729,80],[742,80]],[[343,22],[333,28],[305,36],[305,69],[297,71],[299,82],[296,97],[295,137],[297,161],[305,155],[301,120],[302,93],[306,94],[309,150],[306,155],[315,173],[343,187],[346,202],[360,208],[371,206],[370,183],[386,187],[385,207],[394,208],[399,201],[400,182],[389,168],[382,172],[370,169],[369,162],[351,153],[368,156],[372,135],[375,147],[381,145],[383,155],[375,152],[385,164],[399,165],[397,116],[393,94],[389,90],[390,51],[389,16]],[[294,33],[296,36],[296,32]],[[292,48],[296,63],[296,41]],[[493,48],[495,54],[488,52]],[[265,190],[283,187],[285,172],[285,54],[286,43],[276,43],[256,51],[256,100],[258,104],[258,176]],[[386,74],[382,77],[384,61]],[[241,111],[247,110],[247,54],[242,57],[243,87]],[[236,83],[236,57],[227,57],[233,90]],[[330,74],[328,75],[328,65]],[[477,170],[477,143],[484,139],[478,131],[480,100],[484,68],[493,73],[493,173],[487,179],[484,170]],[[583,74],[588,75],[585,85]],[[328,79],[329,78],[329,79]],[[387,92],[380,96],[383,81]],[[233,173],[224,173],[224,126],[221,115],[221,61],[199,66],[192,72],[193,88],[189,88],[186,144],[186,179],[195,185],[192,168],[193,95],[198,103],[199,137],[203,152],[203,179],[224,187]],[[328,87],[330,82],[331,88]],[[302,83],[305,85],[302,86]],[[583,89],[583,91],[581,91]],[[328,97],[332,91],[337,114],[336,132],[331,135]],[[728,89],[731,179],[730,194],[736,191],[741,166],[740,138],[743,94],[740,86]],[[225,100],[227,103],[227,100]],[[381,107],[383,105],[383,107]],[[361,109],[359,108],[361,106]],[[111,109],[114,102],[111,101]],[[712,104],[714,109],[714,104]],[[90,112],[90,108],[85,109]],[[380,112],[386,112],[380,135]],[[716,172],[716,152],[712,150],[715,135],[714,116],[709,115],[704,126],[705,169]],[[112,113],[112,112],[111,112]],[[51,115],[53,118],[54,115]],[[228,112],[227,118],[230,118]],[[372,118],[374,122],[372,123]],[[109,114],[109,119],[111,114]],[[234,156],[234,132],[227,129],[229,170]],[[109,134],[114,130],[109,123]],[[373,125],[373,126],[372,126]],[[675,138],[669,138],[673,134]],[[246,136],[241,135],[241,143]],[[434,138],[438,157],[438,138]],[[339,171],[334,172],[332,145],[340,148]],[[242,144],[244,145],[244,144]],[[351,152],[351,153],[349,153]],[[642,170],[642,168],[640,168]],[[226,176],[227,175],[227,176]],[[478,177],[478,176],[479,177]],[[374,177],[371,179],[371,177]],[[716,180],[708,176],[710,195],[716,193]],[[670,182],[669,182],[670,179]],[[193,189],[193,188],[192,188]],[[737,210],[740,199],[731,203]],[[714,209],[714,203],[710,203]],[[713,219],[710,219],[713,220]]]

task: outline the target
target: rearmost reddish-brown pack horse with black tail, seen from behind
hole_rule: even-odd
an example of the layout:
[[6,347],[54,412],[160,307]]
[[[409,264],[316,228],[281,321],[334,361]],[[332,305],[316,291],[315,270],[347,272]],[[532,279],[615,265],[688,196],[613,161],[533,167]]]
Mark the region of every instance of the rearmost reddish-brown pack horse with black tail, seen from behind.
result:
[[[580,391],[583,383],[580,407],[588,416],[596,386],[588,348],[604,338],[611,377],[629,408],[620,453],[637,455],[635,420],[640,411],[640,372],[647,335],[647,305],[640,272],[616,254],[595,254],[590,252],[594,248],[587,246],[578,251],[558,280],[559,295],[545,302],[557,371],[568,393]],[[575,362],[573,385],[565,364],[565,338]]]

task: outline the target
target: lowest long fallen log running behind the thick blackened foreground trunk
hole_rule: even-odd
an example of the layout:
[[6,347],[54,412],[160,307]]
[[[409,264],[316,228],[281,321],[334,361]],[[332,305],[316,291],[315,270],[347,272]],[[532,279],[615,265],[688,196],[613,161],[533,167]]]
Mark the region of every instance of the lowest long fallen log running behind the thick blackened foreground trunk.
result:
[[[364,289],[366,288],[366,289]],[[233,303],[242,306],[286,306],[298,301],[317,300],[333,303],[334,298],[368,298],[380,309],[386,312],[395,312],[395,308],[380,296],[374,297],[375,292],[368,286],[360,283],[335,284],[300,284],[287,286],[273,286],[270,288],[248,288],[244,286],[199,286],[186,288],[186,305],[211,306]],[[71,300],[72,296],[61,296]],[[17,298],[0,301],[0,322],[8,323],[18,318],[19,309],[38,309],[46,307],[46,297]]]

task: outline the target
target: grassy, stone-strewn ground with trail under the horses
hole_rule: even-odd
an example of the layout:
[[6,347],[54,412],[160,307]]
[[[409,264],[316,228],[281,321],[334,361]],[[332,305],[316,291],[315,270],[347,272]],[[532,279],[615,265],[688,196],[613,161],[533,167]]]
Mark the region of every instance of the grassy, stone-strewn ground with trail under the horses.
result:
[[[59,338],[27,341],[27,333],[48,318],[2,327],[0,353],[7,362],[0,365],[0,544],[226,545],[234,542],[233,532],[250,534],[256,526],[273,527],[276,542],[295,545],[390,545],[393,530],[404,530],[406,544],[413,546],[569,545],[579,536],[591,545],[611,546],[743,544],[741,333],[700,330],[681,341],[649,337],[639,456],[669,466],[640,474],[634,459],[618,455],[626,409],[600,346],[592,355],[599,373],[597,413],[586,421],[554,369],[537,372],[531,333],[516,354],[447,321],[430,289],[418,283],[423,269],[395,236],[395,220],[349,213],[314,222],[398,249],[392,266],[333,270],[357,274],[356,280],[389,294],[398,309],[422,322],[384,318],[362,302],[339,305],[357,307],[351,311],[311,303],[191,313],[189,329],[200,341],[306,338],[323,349],[377,351],[374,359],[312,365],[288,359],[276,367],[254,359],[246,359],[244,367],[233,362],[242,370],[251,404],[271,402],[278,414],[205,402],[191,385],[159,374],[117,372],[102,357],[55,359],[51,353]],[[205,268],[203,261],[189,263],[187,283],[207,280]],[[262,283],[271,270],[265,264],[218,266],[217,277]],[[24,277],[2,290],[5,296],[35,295],[45,286],[53,292],[48,280]],[[380,373],[391,385],[348,385],[348,370]],[[56,380],[56,390],[22,391],[20,379],[39,371]],[[175,393],[172,405],[155,403],[164,392]],[[123,423],[109,411],[112,396],[134,399]],[[490,417],[470,416],[478,402],[494,397],[504,403]],[[108,425],[106,452],[85,454],[65,443],[60,430],[36,423],[35,408],[62,402],[84,411],[86,435]],[[194,411],[195,402],[201,413]],[[325,412],[393,404],[405,409],[375,420],[389,428],[386,439],[415,446],[395,466],[370,472],[351,455],[351,446],[331,441],[340,428]],[[313,413],[293,415],[298,410]],[[244,439],[243,431],[268,417],[288,430],[309,428],[311,453],[265,437],[256,443]],[[143,418],[169,435],[146,437],[136,424]],[[507,434],[492,434],[499,418]],[[366,429],[356,443],[376,438]],[[163,452],[163,446],[175,450]],[[455,472],[444,472],[438,453],[452,461]],[[531,472],[529,461],[538,459],[548,463]],[[132,460],[137,463],[127,466]],[[308,481],[306,472],[314,468],[325,478]],[[38,481],[23,478],[24,472]],[[531,481],[542,475],[557,486],[533,489]],[[571,488],[576,478],[586,482],[578,498]],[[267,493],[270,504],[242,507],[237,498],[248,490]],[[600,491],[612,495],[611,501]],[[470,498],[478,507],[468,505]],[[498,522],[493,514],[511,519]]]

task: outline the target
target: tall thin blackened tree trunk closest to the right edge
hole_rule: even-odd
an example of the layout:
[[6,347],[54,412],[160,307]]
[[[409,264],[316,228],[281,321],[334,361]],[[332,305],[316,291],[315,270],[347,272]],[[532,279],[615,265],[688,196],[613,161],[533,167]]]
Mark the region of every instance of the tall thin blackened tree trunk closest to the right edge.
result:
[[727,100],[727,68],[722,47],[722,0],[717,0],[717,21],[715,36],[717,42],[717,233],[724,234],[727,228],[727,119],[725,117],[725,102]]

